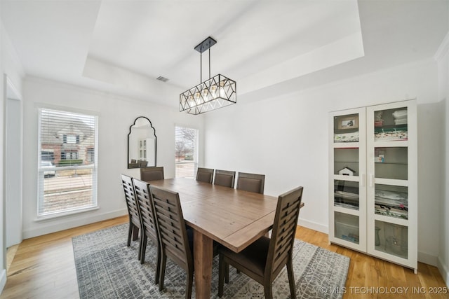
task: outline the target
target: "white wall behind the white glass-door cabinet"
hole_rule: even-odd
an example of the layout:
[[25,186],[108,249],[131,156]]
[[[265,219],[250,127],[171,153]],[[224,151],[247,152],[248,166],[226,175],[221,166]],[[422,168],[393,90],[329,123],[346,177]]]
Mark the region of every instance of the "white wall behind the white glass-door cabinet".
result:
[[435,265],[442,182],[429,174],[440,167],[437,82],[429,59],[279,97],[247,103],[239,97],[238,104],[206,114],[206,165],[265,174],[269,195],[304,186],[300,224],[328,232],[328,112],[417,98],[418,258]]

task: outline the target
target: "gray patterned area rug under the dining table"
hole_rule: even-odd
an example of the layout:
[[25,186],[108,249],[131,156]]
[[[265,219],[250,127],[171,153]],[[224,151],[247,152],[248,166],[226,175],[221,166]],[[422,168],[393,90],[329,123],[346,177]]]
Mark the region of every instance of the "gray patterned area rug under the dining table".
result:
[[[80,298],[185,298],[186,274],[167,259],[164,290],[154,284],[156,249],[148,243],[145,264],[138,260],[138,241],[126,246],[128,224],[74,237],[73,248]],[[349,258],[295,240],[293,268],[297,298],[342,298]],[[212,298],[218,292],[218,257],[213,260]],[[274,298],[290,298],[287,270],[273,283]],[[229,269],[222,298],[262,298],[263,286]],[[192,298],[195,298],[195,286]]]

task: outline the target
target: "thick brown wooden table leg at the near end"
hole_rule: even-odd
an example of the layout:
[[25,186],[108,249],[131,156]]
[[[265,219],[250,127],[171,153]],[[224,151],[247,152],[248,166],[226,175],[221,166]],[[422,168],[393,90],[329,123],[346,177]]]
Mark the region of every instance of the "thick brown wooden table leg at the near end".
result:
[[194,265],[196,298],[210,298],[213,239],[194,229]]

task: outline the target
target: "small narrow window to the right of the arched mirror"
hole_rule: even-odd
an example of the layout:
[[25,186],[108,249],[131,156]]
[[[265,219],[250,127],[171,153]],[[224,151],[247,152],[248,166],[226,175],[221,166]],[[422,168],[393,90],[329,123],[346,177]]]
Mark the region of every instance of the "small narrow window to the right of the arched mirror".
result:
[[198,167],[198,130],[175,127],[176,177],[194,179]]

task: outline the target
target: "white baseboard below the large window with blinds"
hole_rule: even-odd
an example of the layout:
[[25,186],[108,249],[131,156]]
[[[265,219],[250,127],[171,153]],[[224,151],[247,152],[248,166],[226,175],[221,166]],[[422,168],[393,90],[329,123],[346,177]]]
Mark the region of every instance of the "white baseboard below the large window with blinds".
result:
[[[23,239],[29,239],[32,237],[38,237],[41,235],[50,234],[52,232],[59,232],[61,230],[68,230],[69,228],[76,228],[81,225],[91,224],[98,221],[105,221],[107,219],[116,218],[119,216],[123,216],[128,214],[128,210],[119,209],[116,211],[107,212],[104,214],[95,214],[88,215],[89,212],[86,212],[86,215],[82,218],[74,218],[69,219],[67,217],[64,218],[64,221],[61,221],[60,218],[53,218],[48,223],[41,225],[39,223],[39,228],[31,228],[29,230],[23,231]],[[79,214],[77,214],[79,215]],[[36,225],[38,226],[38,225]]]

